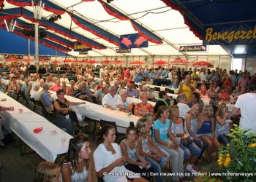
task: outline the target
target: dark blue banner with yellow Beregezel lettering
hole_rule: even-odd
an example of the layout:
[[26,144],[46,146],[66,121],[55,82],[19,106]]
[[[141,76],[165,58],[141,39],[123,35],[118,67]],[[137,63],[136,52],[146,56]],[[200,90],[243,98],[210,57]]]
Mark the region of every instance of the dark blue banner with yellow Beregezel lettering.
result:
[[203,44],[256,44],[256,22],[207,25]]

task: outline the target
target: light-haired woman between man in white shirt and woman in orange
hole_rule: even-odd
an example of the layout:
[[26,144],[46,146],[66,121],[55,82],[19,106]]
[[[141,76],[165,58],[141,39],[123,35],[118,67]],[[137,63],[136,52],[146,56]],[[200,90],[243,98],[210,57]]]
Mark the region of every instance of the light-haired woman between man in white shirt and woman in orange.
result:
[[127,90],[121,89],[119,91],[120,98],[117,100],[117,108],[123,112],[131,112],[132,111],[132,99],[128,98]]

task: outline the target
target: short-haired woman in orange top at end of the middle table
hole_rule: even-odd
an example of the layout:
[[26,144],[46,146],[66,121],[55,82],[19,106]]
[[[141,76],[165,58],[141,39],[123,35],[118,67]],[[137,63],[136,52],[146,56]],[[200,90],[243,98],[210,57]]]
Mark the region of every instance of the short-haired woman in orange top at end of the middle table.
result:
[[135,106],[135,116],[142,117],[144,114],[154,114],[154,108],[148,101],[148,94],[143,92],[140,95],[141,103],[137,103]]

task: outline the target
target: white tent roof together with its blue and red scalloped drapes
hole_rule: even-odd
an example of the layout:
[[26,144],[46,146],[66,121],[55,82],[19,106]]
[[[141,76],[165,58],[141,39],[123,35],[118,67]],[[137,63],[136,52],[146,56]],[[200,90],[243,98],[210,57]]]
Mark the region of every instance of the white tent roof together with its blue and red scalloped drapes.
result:
[[[179,52],[179,46],[200,45],[202,40],[190,31],[192,28],[184,23],[180,12],[161,0],[42,2],[45,2],[45,9],[39,26],[47,31],[47,36],[40,39],[40,43],[69,55],[79,56],[78,52],[72,51],[76,41],[92,47],[89,56],[228,55],[219,45],[208,46],[208,50],[202,53]],[[24,36],[27,23],[35,21],[31,1],[2,0],[1,4],[4,4],[0,12],[1,28],[5,28],[4,20],[12,18],[17,20],[14,32]],[[57,15],[61,18],[49,23],[49,19]],[[132,49],[130,53],[116,53],[119,37],[130,33],[140,33],[148,39],[148,47]]]

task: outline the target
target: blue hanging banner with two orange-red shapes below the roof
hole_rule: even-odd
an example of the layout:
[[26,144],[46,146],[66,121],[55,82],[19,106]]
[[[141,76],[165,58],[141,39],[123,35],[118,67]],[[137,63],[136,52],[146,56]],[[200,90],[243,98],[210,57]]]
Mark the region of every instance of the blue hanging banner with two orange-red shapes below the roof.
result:
[[120,36],[120,49],[148,47],[148,41],[139,35],[133,33]]

